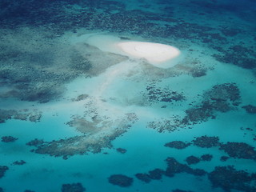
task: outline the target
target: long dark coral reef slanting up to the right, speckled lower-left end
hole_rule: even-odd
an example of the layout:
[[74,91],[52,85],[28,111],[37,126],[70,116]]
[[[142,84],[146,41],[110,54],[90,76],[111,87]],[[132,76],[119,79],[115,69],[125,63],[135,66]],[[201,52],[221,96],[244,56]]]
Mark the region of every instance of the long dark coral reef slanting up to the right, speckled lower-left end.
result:
[[[199,98],[200,101],[200,98]],[[217,112],[226,113],[234,110],[240,104],[240,91],[235,83],[224,83],[213,86],[202,95],[198,105],[191,102],[192,107],[185,111],[182,118],[174,115],[170,118],[162,118],[159,121],[149,122],[148,127],[163,131],[174,131],[182,127],[206,122],[209,118],[216,118]]]

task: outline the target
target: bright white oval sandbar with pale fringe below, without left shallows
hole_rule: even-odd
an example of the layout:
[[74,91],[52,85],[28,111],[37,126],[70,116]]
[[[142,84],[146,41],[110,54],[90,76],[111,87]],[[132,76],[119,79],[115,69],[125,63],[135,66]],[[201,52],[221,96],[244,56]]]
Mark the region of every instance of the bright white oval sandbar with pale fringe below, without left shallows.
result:
[[[154,42],[119,42],[117,46],[126,54],[130,54],[135,58],[145,58],[148,62],[158,67],[161,67],[162,62],[178,58],[181,54],[180,50],[174,46]],[[166,65],[164,68],[166,68]]]

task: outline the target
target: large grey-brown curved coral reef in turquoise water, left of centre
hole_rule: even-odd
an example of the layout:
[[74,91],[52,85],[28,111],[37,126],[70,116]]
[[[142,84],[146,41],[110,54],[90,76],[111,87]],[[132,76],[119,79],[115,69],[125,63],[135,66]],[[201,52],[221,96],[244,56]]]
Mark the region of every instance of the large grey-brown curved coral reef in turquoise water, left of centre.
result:
[[85,118],[74,117],[67,124],[75,126],[83,135],[51,142],[34,139],[26,145],[36,146],[36,149],[31,150],[35,153],[50,154],[64,159],[74,154],[100,153],[102,148],[111,148],[111,142],[126,133],[126,130],[137,120],[137,116],[131,113],[111,121],[106,117],[97,118],[94,116],[93,122],[86,121]]

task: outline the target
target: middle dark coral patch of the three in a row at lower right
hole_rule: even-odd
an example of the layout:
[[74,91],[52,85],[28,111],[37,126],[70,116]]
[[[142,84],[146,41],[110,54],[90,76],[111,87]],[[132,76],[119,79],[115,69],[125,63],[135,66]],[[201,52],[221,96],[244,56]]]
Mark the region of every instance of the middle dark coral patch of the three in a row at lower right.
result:
[[199,138],[196,138],[192,141],[194,143],[194,146],[199,146],[202,148],[210,148],[213,146],[219,146],[219,138],[218,137],[208,137],[208,136],[202,136]]

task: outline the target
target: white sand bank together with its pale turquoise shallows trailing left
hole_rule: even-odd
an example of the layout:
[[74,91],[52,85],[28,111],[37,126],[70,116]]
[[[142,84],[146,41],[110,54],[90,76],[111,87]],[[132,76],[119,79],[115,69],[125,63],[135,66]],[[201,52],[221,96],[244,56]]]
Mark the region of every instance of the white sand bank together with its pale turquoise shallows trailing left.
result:
[[155,42],[122,40],[107,34],[84,34],[72,38],[71,42],[73,44],[86,42],[90,46],[96,46],[99,50],[122,54],[133,59],[144,58],[151,65],[165,69],[177,65],[182,58],[182,52],[174,46]]

